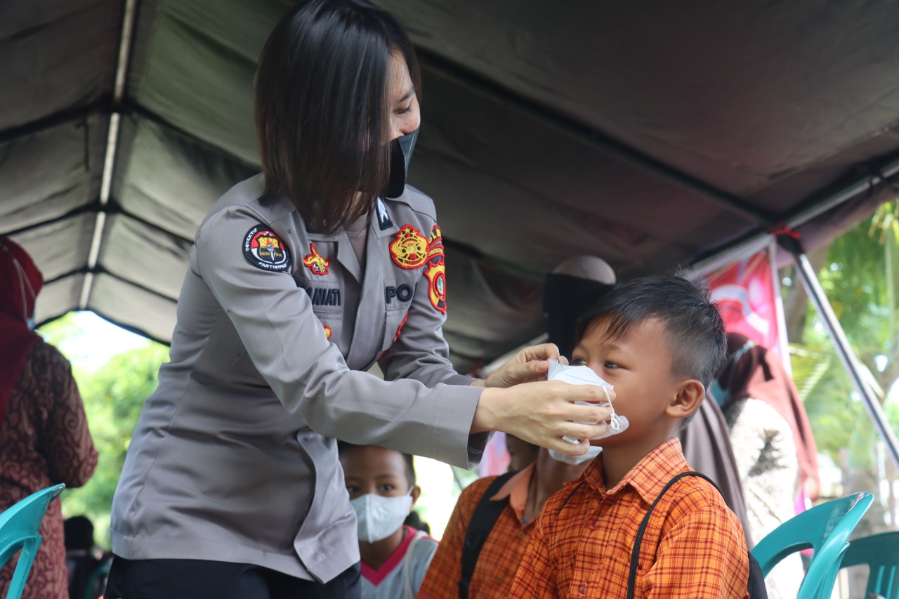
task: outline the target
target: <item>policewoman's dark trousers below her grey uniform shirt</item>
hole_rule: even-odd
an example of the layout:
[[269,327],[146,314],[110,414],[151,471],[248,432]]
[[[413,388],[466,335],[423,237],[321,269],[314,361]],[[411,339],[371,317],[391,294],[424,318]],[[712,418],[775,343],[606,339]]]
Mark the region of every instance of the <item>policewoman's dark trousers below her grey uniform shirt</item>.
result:
[[204,559],[112,559],[106,599],[360,599],[360,565],[324,584]]

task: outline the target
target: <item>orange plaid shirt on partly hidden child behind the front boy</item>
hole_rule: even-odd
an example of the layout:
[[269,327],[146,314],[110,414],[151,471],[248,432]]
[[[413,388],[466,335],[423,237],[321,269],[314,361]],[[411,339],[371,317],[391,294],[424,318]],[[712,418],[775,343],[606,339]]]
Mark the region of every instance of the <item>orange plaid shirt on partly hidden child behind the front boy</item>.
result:
[[[534,471],[534,464],[521,470],[506,481],[494,500],[509,497],[493,530],[484,541],[481,554],[477,557],[475,571],[468,586],[470,599],[492,599],[509,596],[512,581],[524,550],[528,546],[534,523],[524,523],[524,505],[528,501],[528,486]],[[475,514],[475,508],[484,496],[487,487],[496,477],[479,478],[471,483],[458,497],[456,508],[443,532],[441,544],[424,576],[418,591],[419,599],[458,599],[458,580],[462,577],[462,549],[468,523]]]

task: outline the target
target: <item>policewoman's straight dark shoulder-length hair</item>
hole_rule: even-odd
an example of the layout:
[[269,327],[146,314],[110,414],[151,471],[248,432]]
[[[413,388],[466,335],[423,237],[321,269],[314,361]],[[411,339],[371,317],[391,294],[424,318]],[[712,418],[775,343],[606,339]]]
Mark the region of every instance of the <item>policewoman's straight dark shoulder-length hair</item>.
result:
[[394,51],[420,95],[412,43],[375,4],[306,0],[281,19],[254,85],[263,202],[285,193],[307,228],[327,234],[369,210],[390,175],[384,142]]

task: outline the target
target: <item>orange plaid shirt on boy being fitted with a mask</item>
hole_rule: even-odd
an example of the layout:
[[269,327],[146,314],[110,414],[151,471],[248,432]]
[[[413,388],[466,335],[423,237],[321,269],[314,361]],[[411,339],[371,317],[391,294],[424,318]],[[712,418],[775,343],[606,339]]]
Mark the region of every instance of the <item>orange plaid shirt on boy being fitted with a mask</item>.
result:
[[[668,481],[689,469],[681,442],[669,439],[607,491],[600,454],[544,505],[511,596],[626,596],[640,521]],[[745,599],[746,553],[743,529],[717,489],[682,478],[649,518],[635,597]]]

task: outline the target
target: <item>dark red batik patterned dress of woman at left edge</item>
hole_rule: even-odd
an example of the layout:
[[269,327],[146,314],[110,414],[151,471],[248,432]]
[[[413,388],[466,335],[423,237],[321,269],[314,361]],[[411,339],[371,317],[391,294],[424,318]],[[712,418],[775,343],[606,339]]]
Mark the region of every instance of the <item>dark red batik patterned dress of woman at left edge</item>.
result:
[[[97,465],[85,408],[66,358],[52,345],[31,346],[0,425],[0,511],[42,488],[58,483],[80,487]],[[37,558],[25,599],[68,596],[66,547],[59,501],[50,503],[40,525]],[[0,596],[6,595],[17,560],[0,569]]]

